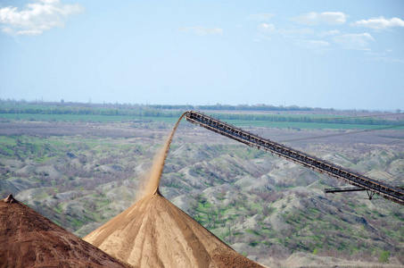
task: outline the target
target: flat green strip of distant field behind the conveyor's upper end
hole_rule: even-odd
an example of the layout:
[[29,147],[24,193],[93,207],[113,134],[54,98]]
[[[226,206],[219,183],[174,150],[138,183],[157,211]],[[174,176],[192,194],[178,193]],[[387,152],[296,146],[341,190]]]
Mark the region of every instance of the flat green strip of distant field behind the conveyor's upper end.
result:
[[[5,120],[23,121],[91,121],[91,122],[119,122],[119,121],[157,121],[175,123],[177,117],[149,117],[149,116],[126,116],[126,115],[93,115],[93,114],[28,114],[28,113],[0,113],[0,118]],[[341,130],[375,130],[389,128],[385,125],[364,124],[335,124],[317,122],[291,122],[291,121],[248,121],[227,120],[228,123],[239,127],[263,127],[263,128],[296,128],[296,129],[341,129]],[[403,130],[403,126],[391,126],[396,130]]]

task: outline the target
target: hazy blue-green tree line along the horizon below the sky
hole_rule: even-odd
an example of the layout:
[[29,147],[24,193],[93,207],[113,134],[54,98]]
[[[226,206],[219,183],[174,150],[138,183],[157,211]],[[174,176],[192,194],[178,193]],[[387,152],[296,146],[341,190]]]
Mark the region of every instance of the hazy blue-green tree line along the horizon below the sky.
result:
[[[299,106],[273,105],[131,105],[131,104],[80,104],[68,102],[26,102],[0,98],[0,113],[9,114],[66,114],[66,115],[102,115],[129,117],[173,117],[195,111],[322,111],[334,112],[334,109],[309,108]],[[366,111],[362,111],[366,112]],[[253,113],[210,113],[224,121],[287,121],[305,123],[333,123],[359,125],[404,125],[404,120],[388,120],[369,116],[319,117],[310,114],[253,114]]]

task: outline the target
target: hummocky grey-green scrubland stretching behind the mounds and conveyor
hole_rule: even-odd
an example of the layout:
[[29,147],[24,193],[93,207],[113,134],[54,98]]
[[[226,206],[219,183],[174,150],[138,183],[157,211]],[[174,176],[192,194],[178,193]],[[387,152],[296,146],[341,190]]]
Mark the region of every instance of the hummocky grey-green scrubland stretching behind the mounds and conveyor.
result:
[[[30,116],[44,116],[45,121],[60,117],[52,123],[22,118],[0,122],[6,126],[2,128],[4,135],[0,135],[0,195],[13,193],[78,236],[84,236],[133,203],[144,172],[169,133],[168,124],[177,121],[175,117],[163,116]],[[76,119],[62,122],[69,121],[62,120],[63,116]],[[295,119],[299,116],[291,115]],[[87,122],[91,117],[102,123],[78,122]],[[310,117],[322,118],[319,114]],[[117,121],[110,123],[107,119]],[[284,136],[292,139],[301,133],[308,137],[330,132],[309,130],[309,126],[317,124],[318,128],[378,128],[304,121],[228,122],[251,123],[252,128],[281,125],[284,130],[259,131],[283,131]],[[234,141],[222,142],[216,134],[192,124],[184,125],[170,148],[161,192],[218,238],[230,246],[236,245],[244,255],[276,255],[285,259],[305,252],[318,257],[401,262],[401,206],[377,197],[365,200],[365,193],[325,195],[323,188],[346,185],[263,151]],[[387,178],[392,183],[400,182],[394,175],[404,172],[402,144],[386,144],[400,137],[400,132],[393,129],[383,130],[380,135],[377,131],[362,133],[367,135],[363,139],[366,143],[348,139],[337,143],[331,137],[298,145],[301,151],[326,156],[327,160],[358,172],[382,172],[391,175]]]

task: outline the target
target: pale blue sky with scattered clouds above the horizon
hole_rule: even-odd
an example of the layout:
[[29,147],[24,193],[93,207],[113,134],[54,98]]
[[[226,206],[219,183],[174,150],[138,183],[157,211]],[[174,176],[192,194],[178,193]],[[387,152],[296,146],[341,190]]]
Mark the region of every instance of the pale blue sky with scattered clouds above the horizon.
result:
[[404,110],[404,1],[0,0],[0,98]]

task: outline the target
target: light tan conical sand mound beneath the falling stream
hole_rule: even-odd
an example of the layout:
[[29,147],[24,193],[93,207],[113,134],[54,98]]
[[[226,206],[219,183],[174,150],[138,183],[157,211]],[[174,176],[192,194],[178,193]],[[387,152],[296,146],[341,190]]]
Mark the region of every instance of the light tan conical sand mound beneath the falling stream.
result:
[[159,191],[84,239],[135,267],[262,267],[236,253]]

